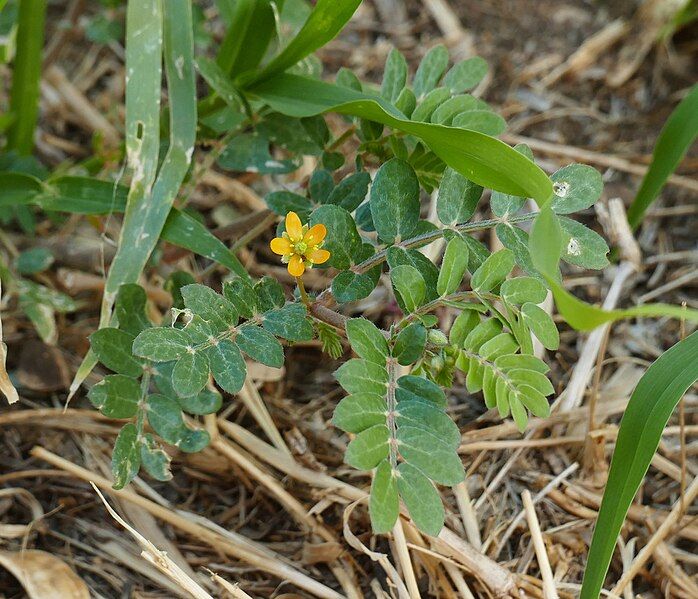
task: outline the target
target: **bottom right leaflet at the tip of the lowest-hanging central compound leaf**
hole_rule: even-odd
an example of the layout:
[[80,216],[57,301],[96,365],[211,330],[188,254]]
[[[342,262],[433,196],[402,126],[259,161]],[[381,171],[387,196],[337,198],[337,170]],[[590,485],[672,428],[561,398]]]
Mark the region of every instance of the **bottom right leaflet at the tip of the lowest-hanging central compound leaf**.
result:
[[412,464],[403,462],[397,468],[397,487],[410,518],[417,528],[436,536],[444,525],[444,506],[434,485]]

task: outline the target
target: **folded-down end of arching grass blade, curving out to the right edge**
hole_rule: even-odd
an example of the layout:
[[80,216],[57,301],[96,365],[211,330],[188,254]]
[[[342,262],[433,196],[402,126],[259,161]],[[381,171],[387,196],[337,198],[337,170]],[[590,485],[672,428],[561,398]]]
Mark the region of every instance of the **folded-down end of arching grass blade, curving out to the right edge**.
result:
[[545,206],[533,223],[529,237],[531,259],[545,277],[557,309],[567,323],[580,331],[590,331],[606,322],[642,316],[671,316],[698,322],[698,310],[669,304],[645,304],[625,310],[602,310],[577,299],[560,284],[558,264],[562,251],[562,232],[557,216]]

